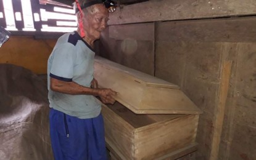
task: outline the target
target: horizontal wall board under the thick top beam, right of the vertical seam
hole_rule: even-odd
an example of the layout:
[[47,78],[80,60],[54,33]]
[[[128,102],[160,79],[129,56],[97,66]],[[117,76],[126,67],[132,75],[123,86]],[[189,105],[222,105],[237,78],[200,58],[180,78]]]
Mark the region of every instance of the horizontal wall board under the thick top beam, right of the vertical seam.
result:
[[157,41],[256,42],[256,17],[157,23]]

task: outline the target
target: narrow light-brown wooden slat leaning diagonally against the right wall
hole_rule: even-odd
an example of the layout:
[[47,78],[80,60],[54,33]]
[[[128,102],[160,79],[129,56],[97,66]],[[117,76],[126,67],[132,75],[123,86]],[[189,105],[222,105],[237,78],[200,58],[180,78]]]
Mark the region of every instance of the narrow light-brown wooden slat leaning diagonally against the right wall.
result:
[[223,120],[225,115],[226,98],[228,97],[229,78],[231,74],[231,61],[223,63],[221,71],[220,91],[218,97],[218,106],[215,112],[215,122],[213,130],[212,151],[210,153],[210,160],[218,159],[218,151],[220,145],[221,132],[223,127]]

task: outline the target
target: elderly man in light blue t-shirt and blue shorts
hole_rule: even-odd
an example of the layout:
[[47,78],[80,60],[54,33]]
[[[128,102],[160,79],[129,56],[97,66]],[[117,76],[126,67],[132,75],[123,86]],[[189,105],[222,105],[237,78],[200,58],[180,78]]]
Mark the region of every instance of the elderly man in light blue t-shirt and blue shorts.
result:
[[117,94],[97,88],[94,41],[107,26],[102,1],[76,1],[78,30],[61,36],[48,60],[50,134],[55,159],[107,159],[101,103]]

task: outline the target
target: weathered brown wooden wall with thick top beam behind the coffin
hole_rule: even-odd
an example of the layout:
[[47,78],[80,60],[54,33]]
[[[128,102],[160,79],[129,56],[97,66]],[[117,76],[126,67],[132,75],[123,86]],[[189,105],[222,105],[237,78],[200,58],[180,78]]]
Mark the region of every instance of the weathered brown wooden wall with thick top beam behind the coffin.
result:
[[[209,2],[222,10],[213,12]],[[199,150],[185,159],[256,159],[255,6],[250,0],[142,2],[112,14],[102,34],[103,57],[178,84],[204,111]],[[226,62],[230,78],[221,76]]]

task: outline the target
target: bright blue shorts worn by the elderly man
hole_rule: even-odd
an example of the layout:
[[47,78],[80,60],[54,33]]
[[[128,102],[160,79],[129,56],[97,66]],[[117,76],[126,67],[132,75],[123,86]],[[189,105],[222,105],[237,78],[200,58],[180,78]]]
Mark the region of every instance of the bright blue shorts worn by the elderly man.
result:
[[56,160],[106,160],[102,115],[79,119],[51,108],[50,135]]

